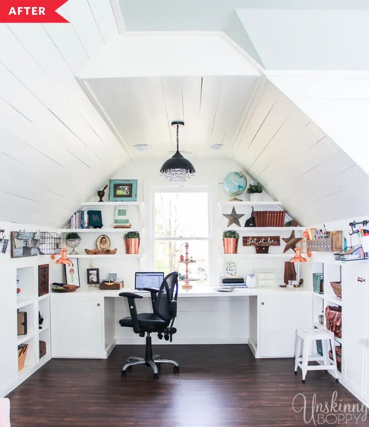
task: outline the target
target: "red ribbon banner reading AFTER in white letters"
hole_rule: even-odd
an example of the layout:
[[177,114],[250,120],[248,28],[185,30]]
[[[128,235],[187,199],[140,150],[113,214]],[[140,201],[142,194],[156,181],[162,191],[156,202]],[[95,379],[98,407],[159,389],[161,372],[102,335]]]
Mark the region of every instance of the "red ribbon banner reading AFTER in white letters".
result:
[[68,23],[56,10],[68,0],[0,0],[0,22]]

